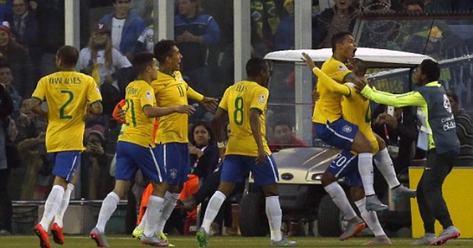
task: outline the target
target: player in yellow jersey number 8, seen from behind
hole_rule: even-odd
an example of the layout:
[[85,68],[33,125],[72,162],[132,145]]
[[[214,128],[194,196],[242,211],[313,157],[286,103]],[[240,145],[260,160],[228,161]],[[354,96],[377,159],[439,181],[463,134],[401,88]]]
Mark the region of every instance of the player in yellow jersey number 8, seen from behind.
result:
[[253,58],[246,63],[248,79],[229,86],[215,113],[214,130],[219,148],[223,149],[225,123],[229,120],[232,133],[227,143],[222,176],[218,191],[210,198],[202,226],[197,232],[199,247],[207,246],[210,224],[214,221],[225,198],[235,184],[253,173],[255,184],[266,196],[266,215],[271,230],[271,246],[293,247],[297,243],[281,235],[283,213],[278,197],[278,168],[268,148],[266,111],[269,92],[266,89],[269,69],[262,59]]

